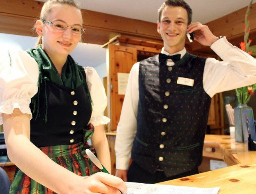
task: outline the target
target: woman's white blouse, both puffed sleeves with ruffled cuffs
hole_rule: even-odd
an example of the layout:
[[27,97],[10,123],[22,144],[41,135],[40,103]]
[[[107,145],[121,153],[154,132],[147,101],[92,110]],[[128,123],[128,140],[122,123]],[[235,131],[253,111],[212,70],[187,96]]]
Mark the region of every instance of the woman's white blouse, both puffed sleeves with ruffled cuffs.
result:
[[[94,126],[107,124],[110,119],[103,115],[107,97],[102,81],[93,67],[84,67],[84,70],[93,103],[89,123]],[[38,75],[38,65],[26,51],[0,49],[0,125],[2,113],[11,114],[15,108],[32,119],[29,105],[38,91]]]

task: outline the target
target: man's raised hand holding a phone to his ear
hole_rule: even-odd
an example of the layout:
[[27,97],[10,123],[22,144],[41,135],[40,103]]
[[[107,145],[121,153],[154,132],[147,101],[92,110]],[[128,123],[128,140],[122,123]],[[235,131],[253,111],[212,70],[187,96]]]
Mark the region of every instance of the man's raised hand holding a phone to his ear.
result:
[[188,25],[187,31],[189,33],[194,32],[194,40],[204,46],[211,46],[216,40],[218,40],[218,37],[212,34],[208,26],[202,25],[199,22],[192,22]]

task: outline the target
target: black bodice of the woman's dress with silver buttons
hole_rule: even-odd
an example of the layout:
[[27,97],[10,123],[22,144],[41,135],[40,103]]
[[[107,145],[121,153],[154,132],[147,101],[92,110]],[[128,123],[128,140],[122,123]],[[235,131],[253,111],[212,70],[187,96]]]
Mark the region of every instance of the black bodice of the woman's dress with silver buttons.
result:
[[[46,87],[46,90],[45,90]],[[37,147],[71,145],[83,141],[83,129],[91,117],[91,103],[84,85],[70,89],[46,81],[40,84],[40,116],[30,121],[30,139]],[[44,121],[47,97],[47,122]],[[30,104],[33,111],[33,105]]]

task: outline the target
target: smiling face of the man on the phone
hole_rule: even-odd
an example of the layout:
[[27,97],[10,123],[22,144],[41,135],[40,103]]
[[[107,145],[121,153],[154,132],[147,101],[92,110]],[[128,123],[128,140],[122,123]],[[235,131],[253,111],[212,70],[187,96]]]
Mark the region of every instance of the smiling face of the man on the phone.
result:
[[157,32],[164,41],[164,49],[169,53],[182,50],[185,46],[188,14],[182,7],[166,6],[158,21]]

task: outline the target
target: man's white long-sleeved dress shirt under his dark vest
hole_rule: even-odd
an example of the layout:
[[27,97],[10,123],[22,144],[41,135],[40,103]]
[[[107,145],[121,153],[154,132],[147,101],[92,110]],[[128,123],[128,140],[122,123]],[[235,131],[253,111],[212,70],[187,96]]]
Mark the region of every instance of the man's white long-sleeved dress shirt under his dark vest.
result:
[[[214,42],[211,49],[223,61],[214,58],[206,59],[203,87],[210,97],[222,91],[256,83],[256,60],[252,56],[230,44],[225,37]],[[164,48],[162,48],[161,53],[170,55],[164,51]],[[181,54],[181,57],[183,57],[185,53],[186,49],[184,48],[174,54]],[[116,169],[121,170],[126,170],[129,167],[132,144],[136,135],[139,65],[140,62],[135,63],[130,71],[120,121],[117,126],[115,142]],[[167,65],[174,65],[174,62],[167,61]]]

